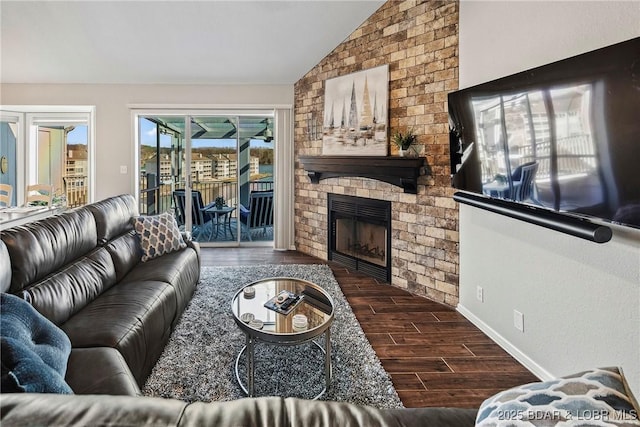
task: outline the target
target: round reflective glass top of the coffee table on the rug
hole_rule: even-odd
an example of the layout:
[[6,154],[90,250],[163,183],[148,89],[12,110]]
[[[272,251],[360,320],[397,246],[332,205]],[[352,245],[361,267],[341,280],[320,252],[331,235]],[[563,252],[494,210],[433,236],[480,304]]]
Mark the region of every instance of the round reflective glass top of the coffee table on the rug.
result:
[[[280,294],[293,296],[293,303],[289,307],[284,306],[286,314],[265,307],[269,302],[271,307],[283,307],[277,300]],[[243,331],[269,341],[317,336],[330,326],[333,319],[333,301],[324,289],[306,280],[289,277],[249,283],[235,294],[231,306],[234,319]],[[294,316],[296,321],[304,319],[296,315],[306,317],[306,326],[296,325],[294,328]]]

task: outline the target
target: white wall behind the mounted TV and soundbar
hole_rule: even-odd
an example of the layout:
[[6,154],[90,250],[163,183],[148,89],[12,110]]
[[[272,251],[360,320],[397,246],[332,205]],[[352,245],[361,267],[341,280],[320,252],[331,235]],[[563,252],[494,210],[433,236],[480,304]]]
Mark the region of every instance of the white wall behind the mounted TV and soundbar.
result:
[[[640,3],[463,0],[459,28],[464,88],[638,37]],[[459,311],[543,379],[622,366],[640,395],[640,230],[613,230],[599,245],[461,205]]]

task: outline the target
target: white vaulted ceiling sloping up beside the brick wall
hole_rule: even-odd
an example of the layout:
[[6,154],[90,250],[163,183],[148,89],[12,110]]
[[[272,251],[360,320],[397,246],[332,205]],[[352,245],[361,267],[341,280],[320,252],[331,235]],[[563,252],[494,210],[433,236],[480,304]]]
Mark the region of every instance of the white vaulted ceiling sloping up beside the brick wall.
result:
[[0,1],[0,82],[293,84],[383,0]]

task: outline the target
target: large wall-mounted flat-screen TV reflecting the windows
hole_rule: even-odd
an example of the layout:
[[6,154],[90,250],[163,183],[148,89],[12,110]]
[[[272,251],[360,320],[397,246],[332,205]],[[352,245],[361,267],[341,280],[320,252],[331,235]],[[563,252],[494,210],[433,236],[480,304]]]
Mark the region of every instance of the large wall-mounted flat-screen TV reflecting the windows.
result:
[[455,188],[640,228],[640,37],[448,101]]

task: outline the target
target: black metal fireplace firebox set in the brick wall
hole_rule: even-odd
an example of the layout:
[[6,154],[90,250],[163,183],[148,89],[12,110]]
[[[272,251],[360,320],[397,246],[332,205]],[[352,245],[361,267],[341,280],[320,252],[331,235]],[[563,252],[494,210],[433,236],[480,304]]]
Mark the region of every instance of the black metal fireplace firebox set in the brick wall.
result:
[[328,195],[329,259],[391,280],[391,202]]

